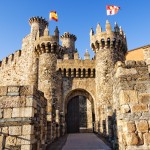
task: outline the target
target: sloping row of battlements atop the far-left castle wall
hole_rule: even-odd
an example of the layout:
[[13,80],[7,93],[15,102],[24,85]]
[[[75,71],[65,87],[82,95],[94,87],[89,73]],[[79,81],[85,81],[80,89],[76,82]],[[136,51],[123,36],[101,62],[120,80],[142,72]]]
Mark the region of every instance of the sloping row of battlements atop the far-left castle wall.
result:
[[21,56],[22,51],[17,50],[14,54],[9,55],[8,57],[5,57],[0,61],[0,67],[4,67],[7,64],[11,64],[14,62],[14,60],[18,60],[18,58]]

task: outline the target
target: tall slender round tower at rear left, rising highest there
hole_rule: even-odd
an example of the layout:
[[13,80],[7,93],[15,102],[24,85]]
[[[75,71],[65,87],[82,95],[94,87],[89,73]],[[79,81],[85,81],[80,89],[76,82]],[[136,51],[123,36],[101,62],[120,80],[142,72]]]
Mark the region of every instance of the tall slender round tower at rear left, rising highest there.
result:
[[36,37],[42,36],[48,26],[48,22],[42,17],[32,17],[29,19],[31,32],[23,39],[22,50],[26,51],[29,64],[28,84],[38,87],[38,58],[34,53],[34,43]]

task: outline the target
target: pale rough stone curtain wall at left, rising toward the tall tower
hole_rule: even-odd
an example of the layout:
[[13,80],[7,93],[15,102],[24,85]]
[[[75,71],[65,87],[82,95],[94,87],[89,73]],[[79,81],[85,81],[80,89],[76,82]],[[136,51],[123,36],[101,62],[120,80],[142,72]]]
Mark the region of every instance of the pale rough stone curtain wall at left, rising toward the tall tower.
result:
[[38,62],[31,46],[33,42],[29,34],[23,40],[22,50],[16,51],[0,62],[0,86],[36,84]]

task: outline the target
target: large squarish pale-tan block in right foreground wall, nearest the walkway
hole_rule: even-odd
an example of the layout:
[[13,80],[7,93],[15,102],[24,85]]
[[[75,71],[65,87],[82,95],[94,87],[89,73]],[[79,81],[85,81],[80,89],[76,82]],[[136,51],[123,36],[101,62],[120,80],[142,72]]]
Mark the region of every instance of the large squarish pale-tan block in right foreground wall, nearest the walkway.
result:
[[137,92],[135,90],[122,90],[119,94],[120,105],[138,103]]

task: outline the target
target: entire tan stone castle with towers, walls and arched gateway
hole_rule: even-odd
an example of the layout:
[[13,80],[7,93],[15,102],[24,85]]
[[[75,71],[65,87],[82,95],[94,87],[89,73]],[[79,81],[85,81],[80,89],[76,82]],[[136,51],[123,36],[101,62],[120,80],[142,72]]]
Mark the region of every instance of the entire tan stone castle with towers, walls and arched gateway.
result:
[[96,132],[113,149],[150,149],[150,46],[127,60],[123,30],[106,21],[90,31],[94,58],[81,60],[75,35],[49,35],[42,17],[29,24],[21,50],[0,62],[0,148],[45,150],[66,133]]

